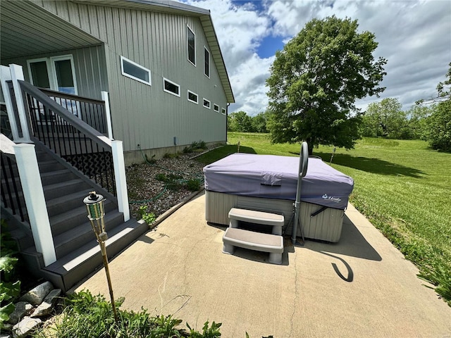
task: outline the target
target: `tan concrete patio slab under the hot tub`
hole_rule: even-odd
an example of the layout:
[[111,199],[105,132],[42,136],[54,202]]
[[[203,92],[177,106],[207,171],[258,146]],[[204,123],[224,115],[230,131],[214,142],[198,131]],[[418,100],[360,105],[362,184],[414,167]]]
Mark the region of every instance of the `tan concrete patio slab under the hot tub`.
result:
[[[206,223],[200,193],[140,237],[110,263],[122,308],[197,330],[222,323],[222,337],[451,337],[450,306],[351,205],[340,242],[295,248],[286,238],[282,265],[222,253],[225,229]],[[82,289],[108,296],[104,270]]]

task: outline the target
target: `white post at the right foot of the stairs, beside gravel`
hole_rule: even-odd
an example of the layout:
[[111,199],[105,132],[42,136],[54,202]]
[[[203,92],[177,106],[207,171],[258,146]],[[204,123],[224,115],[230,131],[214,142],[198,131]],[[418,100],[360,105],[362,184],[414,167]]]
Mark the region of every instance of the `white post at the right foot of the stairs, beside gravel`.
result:
[[111,141],[113,152],[114,177],[116,179],[116,193],[118,195],[118,208],[124,214],[124,222],[130,220],[128,206],[127,181],[125,180],[125,162],[122,141]]

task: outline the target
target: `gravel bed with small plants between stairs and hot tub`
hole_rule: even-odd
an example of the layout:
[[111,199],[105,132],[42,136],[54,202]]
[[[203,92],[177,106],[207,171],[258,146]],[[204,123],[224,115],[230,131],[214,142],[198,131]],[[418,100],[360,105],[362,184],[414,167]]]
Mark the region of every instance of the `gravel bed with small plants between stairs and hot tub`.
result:
[[154,213],[156,217],[168,211],[192,194],[186,186],[190,180],[197,180],[199,189],[202,188],[204,164],[190,159],[193,156],[195,154],[178,154],[125,168],[132,216],[139,218],[138,210],[142,206],[145,212]]

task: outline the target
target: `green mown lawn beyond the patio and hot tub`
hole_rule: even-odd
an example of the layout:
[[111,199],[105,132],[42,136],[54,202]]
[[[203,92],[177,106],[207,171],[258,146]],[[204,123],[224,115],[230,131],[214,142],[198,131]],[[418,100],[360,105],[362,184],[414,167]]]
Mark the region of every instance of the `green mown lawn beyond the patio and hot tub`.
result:
[[[240,142],[240,152],[299,156],[299,144],[271,144],[268,134],[229,132],[228,142],[235,145],[227,151]],[[314,149],[326,163],[332,154],[331,146]],[[423,141],[364,138],[350,151],[336,149],[330,165],[354,179],[350,202],[451,306],[451,154]]]

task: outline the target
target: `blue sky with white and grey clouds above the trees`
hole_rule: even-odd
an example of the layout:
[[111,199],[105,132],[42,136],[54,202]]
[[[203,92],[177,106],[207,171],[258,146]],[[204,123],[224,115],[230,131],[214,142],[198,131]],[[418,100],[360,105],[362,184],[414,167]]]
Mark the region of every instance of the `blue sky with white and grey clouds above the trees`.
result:
[[229,113],[254,116],[266,111],[265,81],[276,51],[313,18],[357,19],[358,32],[376,35],[377,59],[386,58],[385,92],[356,102],[362,111],[371,102],[398,99],[408,110],[415,101],[436,94],[451,62],[449,0],[183,0],[211,11],[235,104]]

